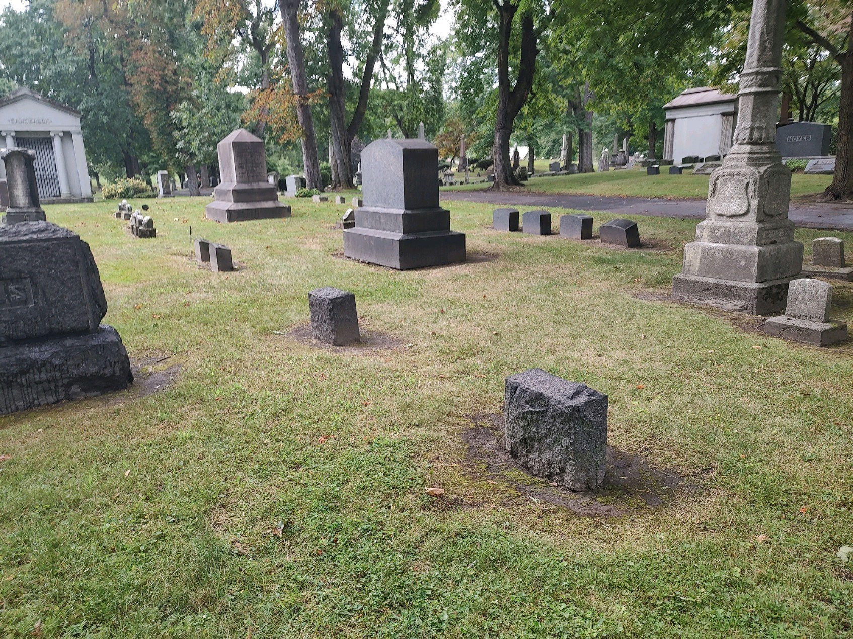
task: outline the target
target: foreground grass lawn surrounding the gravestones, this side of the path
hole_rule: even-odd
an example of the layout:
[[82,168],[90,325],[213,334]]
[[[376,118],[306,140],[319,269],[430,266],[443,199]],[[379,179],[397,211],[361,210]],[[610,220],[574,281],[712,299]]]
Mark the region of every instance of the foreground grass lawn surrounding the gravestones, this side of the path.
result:
[[[618,250],[452,202],[468,261],[394,272],[341,256],[343,205],[225,226],[207,201],[147,200],[150,240],[114,201],[45,207],[139,368],[0,417],[3,636],[853,631],[853,346],[668,301],[696,222],[634,216],[646,246]],[[189,227],[237,270],[198,267]],[[797,230],[806,261],[826,234]],[[324,285],[355,292],[363,345],[305,337]],[[502,454],[504,377],[533,366],[609,396],[601,489]]]

